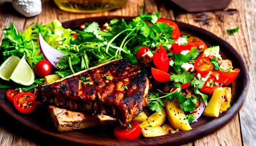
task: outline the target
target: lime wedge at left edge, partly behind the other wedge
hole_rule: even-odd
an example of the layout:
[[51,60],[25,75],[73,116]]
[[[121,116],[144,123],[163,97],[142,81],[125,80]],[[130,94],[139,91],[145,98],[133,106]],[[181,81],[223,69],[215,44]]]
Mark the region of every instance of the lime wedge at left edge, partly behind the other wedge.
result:
[[8,81],[19,62],[20,58],[15,55],[7,58],[0,66],[0,78]]

